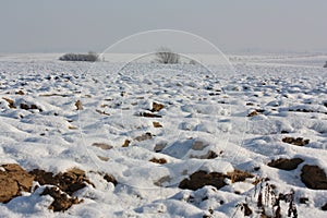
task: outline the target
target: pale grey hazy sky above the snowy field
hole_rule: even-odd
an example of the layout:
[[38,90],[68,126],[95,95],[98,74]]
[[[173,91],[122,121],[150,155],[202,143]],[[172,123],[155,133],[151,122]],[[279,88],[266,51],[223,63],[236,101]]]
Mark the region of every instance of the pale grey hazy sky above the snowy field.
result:
[[101,52],[162,28],[196,34],[226,52],[326,52],[327,1],[0,0],[0,53]]

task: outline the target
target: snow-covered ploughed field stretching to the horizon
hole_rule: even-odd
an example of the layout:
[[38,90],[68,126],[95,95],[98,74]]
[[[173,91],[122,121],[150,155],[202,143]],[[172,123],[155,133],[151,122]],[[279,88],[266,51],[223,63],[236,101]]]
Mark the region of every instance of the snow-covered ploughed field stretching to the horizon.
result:
[[[0,56],[0,165],[78,168],[94,185],[72,194],[82,203],[56,213],[41,185],[0,203],[0,217],[244,217],[244,205],[250,217],[263,208],[272,216],[275,195],[292,191],[282,217],[289,204],[298,217],[327,216],[326,174],[313,181],[318,187],[302,179],[304,166],[327,173],[326,55],[228,56],[234,71],[222,72],[57,58]],[[302,161],[291,170],[268,166],[279,158]],[[254,177],[183,189],[199,170]]]

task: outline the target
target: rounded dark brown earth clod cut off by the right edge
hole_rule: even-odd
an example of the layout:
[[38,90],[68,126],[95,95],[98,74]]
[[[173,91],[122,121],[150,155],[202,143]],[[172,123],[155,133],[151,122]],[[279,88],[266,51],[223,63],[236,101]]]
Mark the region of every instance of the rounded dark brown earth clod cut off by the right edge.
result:
[[304,165],[301,173],[302,182],[312,190],[327,190],[327,177],[318,166]]

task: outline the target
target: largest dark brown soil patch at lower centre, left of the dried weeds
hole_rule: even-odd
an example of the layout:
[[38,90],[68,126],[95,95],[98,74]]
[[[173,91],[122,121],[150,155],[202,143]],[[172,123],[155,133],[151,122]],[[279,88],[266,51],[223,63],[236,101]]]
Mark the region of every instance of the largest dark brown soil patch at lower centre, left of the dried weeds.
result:
[[206,172],[203,170],[196,171],[190,175],[190,179],[184,179],[180,184],[180,189],[187,189],[187,190],[198,190],[205,185],[213,185],[217,189],[220,189],[227,183],[225,179],[227,178],[226,174],[220,172]]

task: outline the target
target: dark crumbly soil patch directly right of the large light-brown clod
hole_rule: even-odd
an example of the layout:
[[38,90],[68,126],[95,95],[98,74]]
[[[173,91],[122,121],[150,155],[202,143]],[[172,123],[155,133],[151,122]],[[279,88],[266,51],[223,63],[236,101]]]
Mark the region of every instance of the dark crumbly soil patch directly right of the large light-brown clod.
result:
[[73,194],[77,190],[86,186],[86,184],[94,184],[86,178],[85,172],[77,168],[71,169],[68,172],[59,172],[53,175],[52,172],[46,172],[45,170],[35,169],[29,172],[35,177],[35,180],[41,184],[51,184],[58,186],[61,191]]

